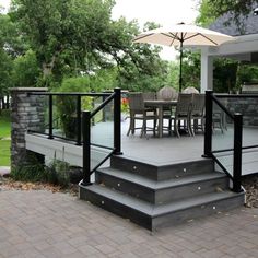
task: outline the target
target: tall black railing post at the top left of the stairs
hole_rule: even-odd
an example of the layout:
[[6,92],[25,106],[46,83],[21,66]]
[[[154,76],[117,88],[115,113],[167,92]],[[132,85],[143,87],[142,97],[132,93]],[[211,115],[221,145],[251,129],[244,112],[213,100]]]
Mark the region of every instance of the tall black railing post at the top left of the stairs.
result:
[[121,155],[121,89],[114,89],[114,148],[115,155]]

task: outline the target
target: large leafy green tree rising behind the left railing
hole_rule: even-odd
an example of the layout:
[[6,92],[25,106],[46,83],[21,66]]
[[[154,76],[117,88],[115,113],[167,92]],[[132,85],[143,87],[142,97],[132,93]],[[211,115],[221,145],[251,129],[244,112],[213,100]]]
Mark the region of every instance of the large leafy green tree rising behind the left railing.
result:
[[12,1],[10,15],[36,54],[43,82],[113,67],[118,67],[120,82],[161,72],[159,48],[132,44],[138,24],[122,17],[113,21],[114,4],[112,0]]

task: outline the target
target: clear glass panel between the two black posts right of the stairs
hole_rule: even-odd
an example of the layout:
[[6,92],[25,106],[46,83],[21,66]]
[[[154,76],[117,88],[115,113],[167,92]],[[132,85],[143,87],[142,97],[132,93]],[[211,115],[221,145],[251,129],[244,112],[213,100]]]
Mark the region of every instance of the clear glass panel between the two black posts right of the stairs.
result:
[[213,102],[211,151],[231,175],[233,175],[233,148],[234,121]]

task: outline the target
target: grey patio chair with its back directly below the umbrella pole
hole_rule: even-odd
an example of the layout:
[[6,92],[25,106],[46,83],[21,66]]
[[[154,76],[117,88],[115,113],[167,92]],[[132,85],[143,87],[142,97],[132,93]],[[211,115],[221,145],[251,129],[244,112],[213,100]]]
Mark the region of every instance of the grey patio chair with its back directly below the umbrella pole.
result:
[[189,136],[191,136],[191,129],[189,125],[189,113],[191,108],[191,99],[192,99],[192,94],[186,94],[186,93],[178,94],[178,101],[176,105],[175,115],[172,116],[169,119],[169,128],[172,130],[172,121],[173,121],[174,133],[177,137],[180,137],[179,129],[180,129],[181,121],[184,125],[184,130],[187,131]]

